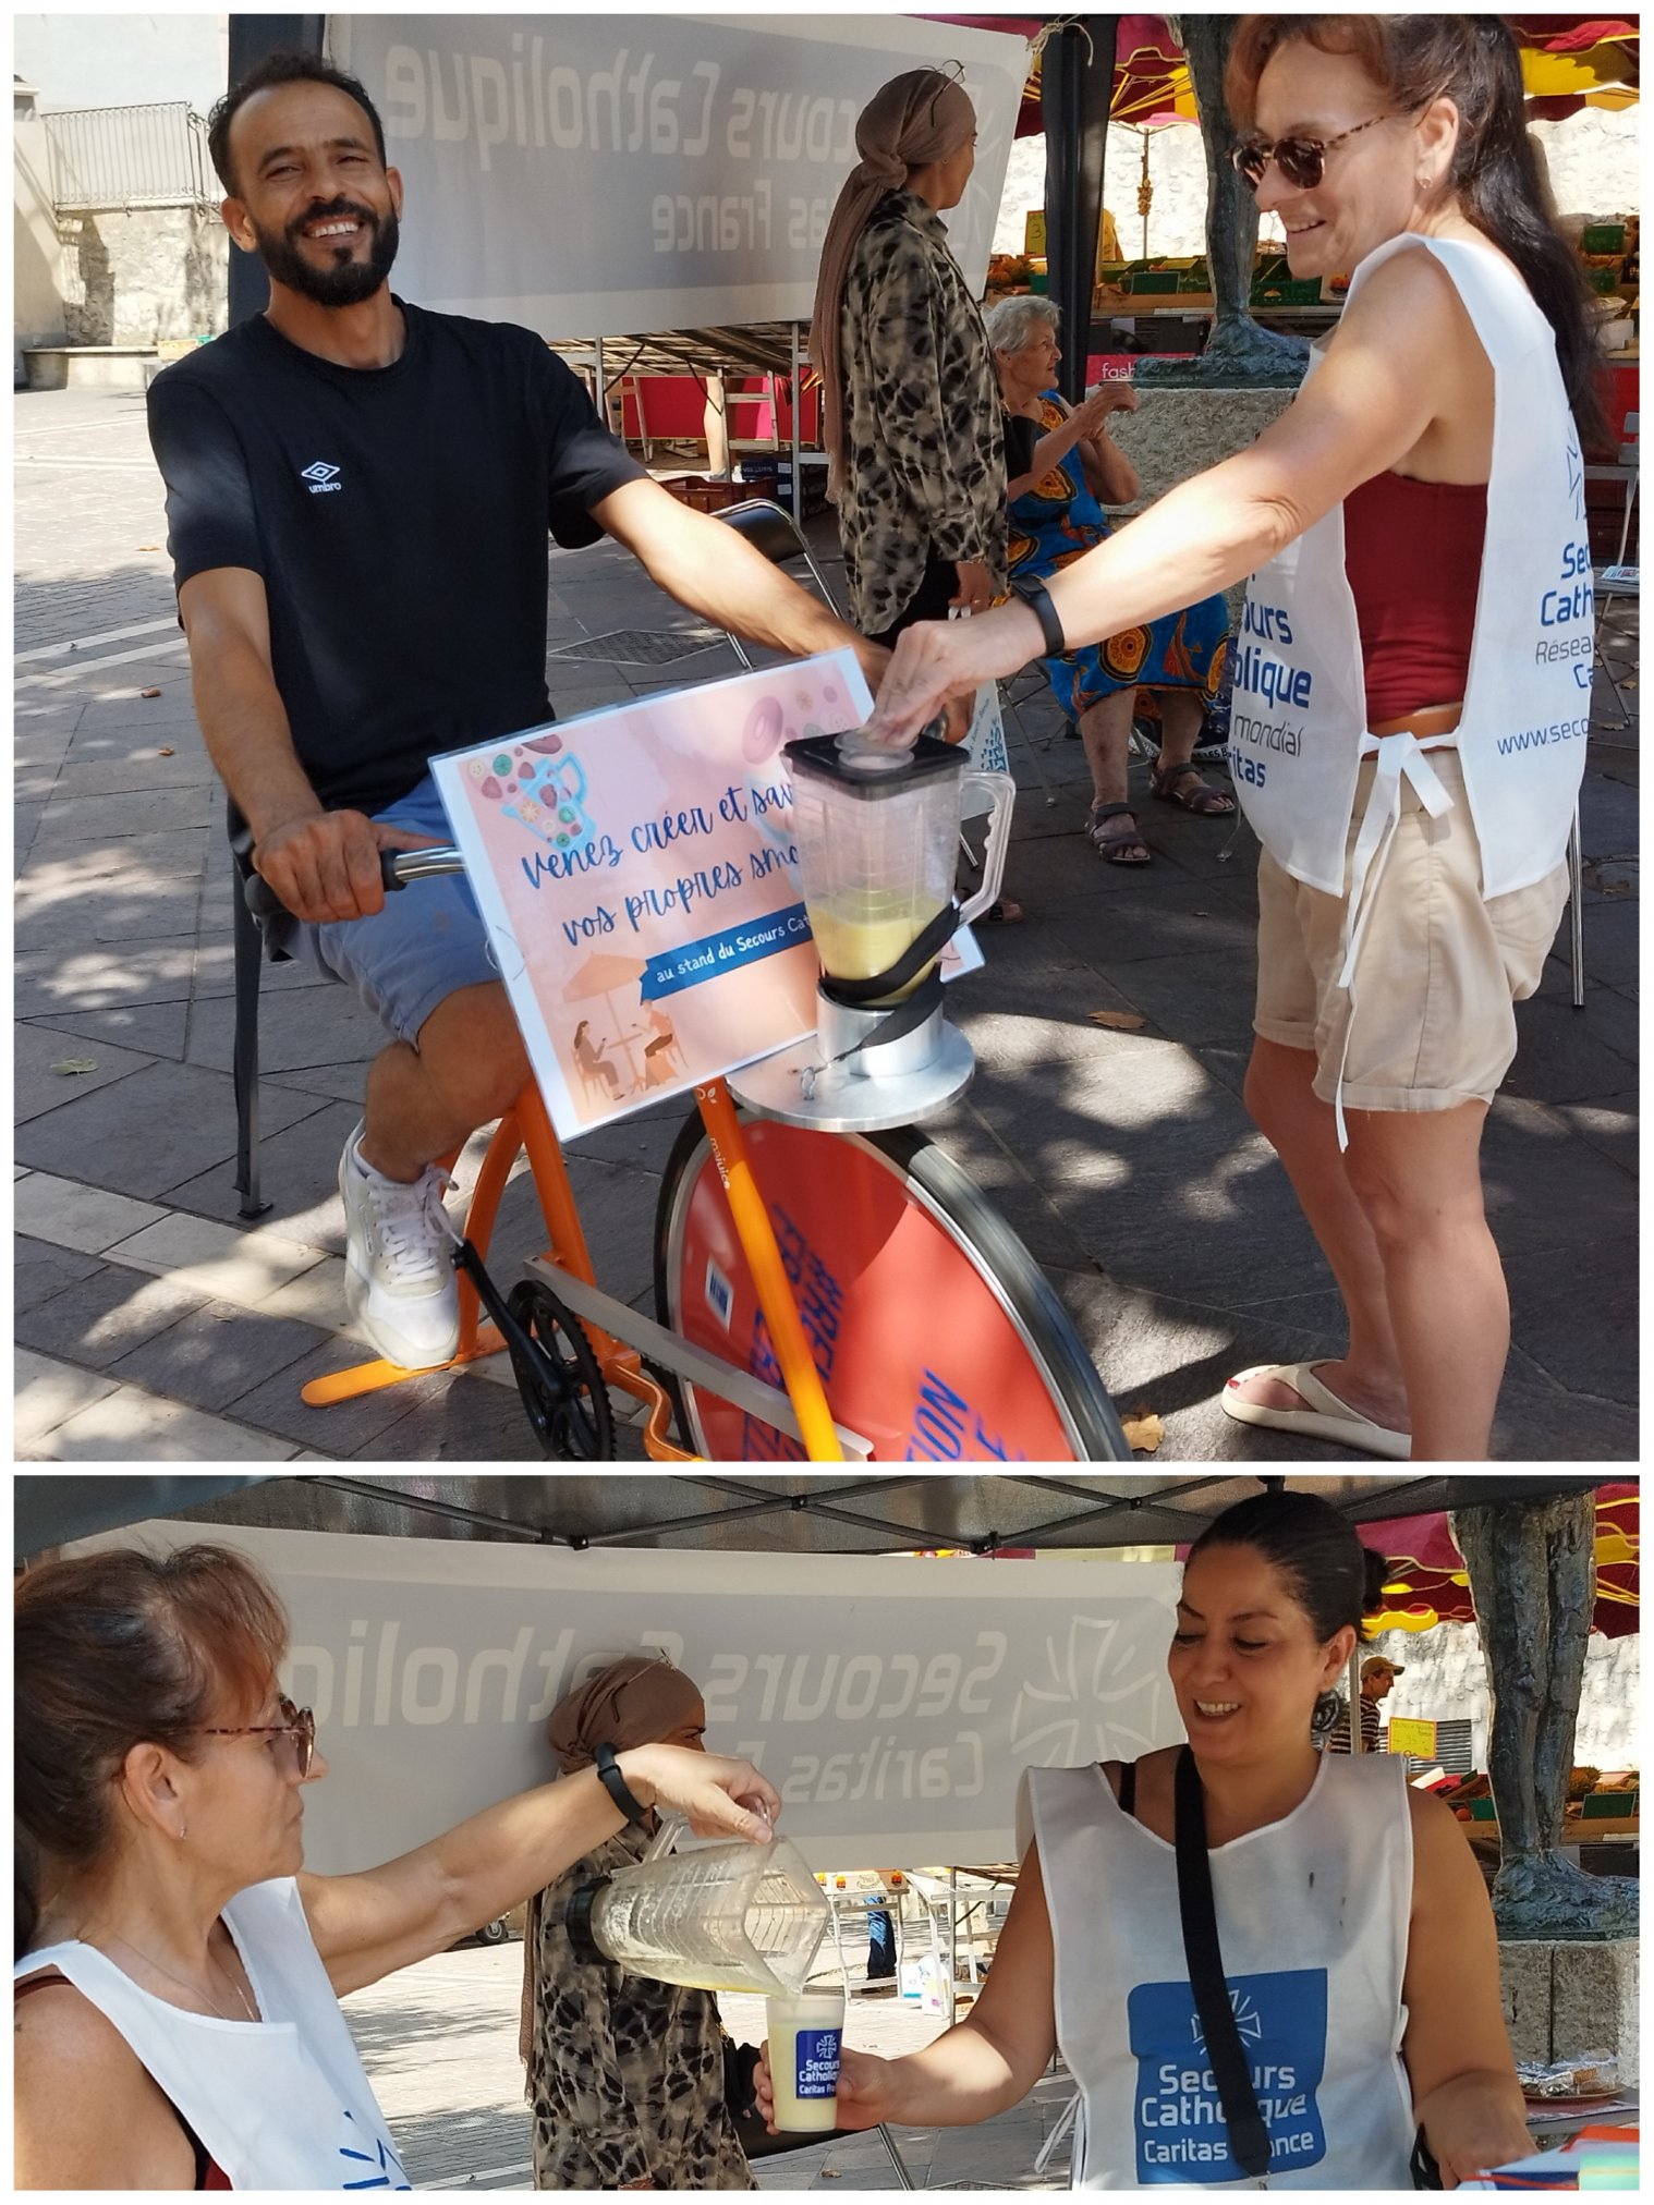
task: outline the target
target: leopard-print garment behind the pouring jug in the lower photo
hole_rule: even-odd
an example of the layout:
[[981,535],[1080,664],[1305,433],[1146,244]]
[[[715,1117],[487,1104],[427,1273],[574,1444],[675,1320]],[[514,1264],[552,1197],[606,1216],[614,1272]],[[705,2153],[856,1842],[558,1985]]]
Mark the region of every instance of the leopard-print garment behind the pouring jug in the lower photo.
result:
[[536,2190],[756,2190],[723,2104],[723,2024],[710,1991],[578,1960],[569,1896],[631,1868],[646,1830],[622,1830],[540,1892],[536,1936]]

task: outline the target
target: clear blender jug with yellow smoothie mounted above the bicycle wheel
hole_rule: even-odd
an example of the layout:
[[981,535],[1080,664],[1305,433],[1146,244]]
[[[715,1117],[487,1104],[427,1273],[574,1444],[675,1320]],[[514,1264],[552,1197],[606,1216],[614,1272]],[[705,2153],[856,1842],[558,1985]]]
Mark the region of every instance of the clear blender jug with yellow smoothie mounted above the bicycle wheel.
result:
[[[1017,785],[968,765],[955,743],[922,734],[913,750],[820,734],[787,745],[798,878],[827,979],[889,972],[953,902],[959,818],[968,787],[992,800],[981,886],[959,911],[977,917],[999,895]],[[931,970],[926,966],[926,970]],[[900,1001],[924,979],[880,1001]]]

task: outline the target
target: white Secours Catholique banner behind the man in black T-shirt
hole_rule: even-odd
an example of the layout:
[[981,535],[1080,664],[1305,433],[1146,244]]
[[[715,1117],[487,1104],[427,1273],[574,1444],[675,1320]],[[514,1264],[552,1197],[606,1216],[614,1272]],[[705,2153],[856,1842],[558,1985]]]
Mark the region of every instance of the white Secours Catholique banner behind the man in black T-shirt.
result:
[[1028,44],[902,15],[329,15],[406,205],[395,287],[543,337],[807,322],[856,117],[959,62],[977,170],[948,216],[988,276]]

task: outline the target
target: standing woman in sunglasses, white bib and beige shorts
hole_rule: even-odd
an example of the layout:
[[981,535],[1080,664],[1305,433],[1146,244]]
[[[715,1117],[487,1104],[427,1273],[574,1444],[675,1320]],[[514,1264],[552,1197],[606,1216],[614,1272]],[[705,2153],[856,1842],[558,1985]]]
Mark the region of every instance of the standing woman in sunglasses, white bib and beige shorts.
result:
[[1050,584],[906,633],[873,732],[1253,576],[1231,763],[1264,845],[1246,1102],[1347,1312],[1224,1409],[1480,1460],[1508,1352],[1480,1142],[1561,917],[1592,666],[1583,280],[1493,15],[1248,15],[1235,165],[1352,271],[1288,412]]

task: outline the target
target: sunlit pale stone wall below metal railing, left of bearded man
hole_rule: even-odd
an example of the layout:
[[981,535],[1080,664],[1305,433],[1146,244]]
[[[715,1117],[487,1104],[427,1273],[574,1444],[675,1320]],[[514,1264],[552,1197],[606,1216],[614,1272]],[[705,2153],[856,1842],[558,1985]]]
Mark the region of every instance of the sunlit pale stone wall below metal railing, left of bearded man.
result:
[[66,214],[64,322],[71,344],[223,335],[229,232],[216,209]]

